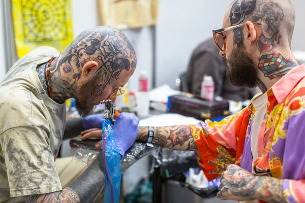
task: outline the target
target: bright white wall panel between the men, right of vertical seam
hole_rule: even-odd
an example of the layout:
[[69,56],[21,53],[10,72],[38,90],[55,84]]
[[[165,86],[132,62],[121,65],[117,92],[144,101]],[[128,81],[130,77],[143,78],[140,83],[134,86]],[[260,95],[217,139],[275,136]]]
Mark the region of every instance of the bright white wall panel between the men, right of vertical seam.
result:
[[187,70],[193,49],[222,27],[230,1],[160,0],[157,26],[157,86]]

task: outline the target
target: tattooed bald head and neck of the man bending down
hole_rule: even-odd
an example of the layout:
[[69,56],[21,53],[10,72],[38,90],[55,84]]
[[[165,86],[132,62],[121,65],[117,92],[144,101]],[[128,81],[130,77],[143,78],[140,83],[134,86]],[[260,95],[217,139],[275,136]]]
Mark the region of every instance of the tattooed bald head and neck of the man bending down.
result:
[[[101,100],[112,99],[133,75],[137,57],[130,41],[111,26],[87,29],[47,68],[50,70],[53,100],[76,99],[80,115],[92,113]],[[38,74],[47,90],[44,67]]]

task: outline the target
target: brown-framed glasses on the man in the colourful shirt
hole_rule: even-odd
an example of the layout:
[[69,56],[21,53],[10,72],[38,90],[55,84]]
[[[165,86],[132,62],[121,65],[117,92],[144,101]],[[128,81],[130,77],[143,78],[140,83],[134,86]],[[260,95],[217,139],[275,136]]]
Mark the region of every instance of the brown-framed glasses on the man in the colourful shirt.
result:
[[[263,27],[263,25],[255,23],[255,22],[253,22],[253,24],[254,24],[254,26],[257,26],[257,27]],[[226,51],[226,40],[227,39],[226,39],[226,37],[224,37],[223,32],[229,31],[231,29],[235,29],[238,27],[242,27],[245,25],[246,25],[246,23],[243,23],[243,24],[239,24],[239,25],[233,25],[231,27],[225,27],[222,29],[213,30],[213,37],[214,37],[215,43],[216,43],[217,47],[219,48],[219,50],[223,51],[223,52]]]

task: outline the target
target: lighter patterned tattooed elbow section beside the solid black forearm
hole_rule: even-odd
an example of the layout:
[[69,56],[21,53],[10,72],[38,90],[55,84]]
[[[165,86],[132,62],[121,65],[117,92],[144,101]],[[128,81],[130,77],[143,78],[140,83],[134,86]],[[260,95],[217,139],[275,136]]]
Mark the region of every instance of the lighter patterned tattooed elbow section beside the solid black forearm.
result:
[[25,201],[27,203],[40,203],[40,202],[50,202],[50,203],[59,203],[59,202],[69,202],[76,203],[80,202],[77,194],[69,187],[63,189],[62,191],[52,192],[47,194],[35,194],[25,196]]

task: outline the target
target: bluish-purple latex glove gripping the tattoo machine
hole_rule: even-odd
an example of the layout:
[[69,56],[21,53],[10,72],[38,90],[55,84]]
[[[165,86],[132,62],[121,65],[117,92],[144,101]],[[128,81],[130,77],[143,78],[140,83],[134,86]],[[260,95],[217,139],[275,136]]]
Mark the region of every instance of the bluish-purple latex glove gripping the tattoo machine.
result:
[[111,127],[118,153],[121,156],[124,156],[125,152],[136,141],[139,132],[138,124],[139,119],[133,113],[123,112],[115,118],[115,123]]

